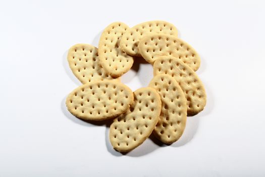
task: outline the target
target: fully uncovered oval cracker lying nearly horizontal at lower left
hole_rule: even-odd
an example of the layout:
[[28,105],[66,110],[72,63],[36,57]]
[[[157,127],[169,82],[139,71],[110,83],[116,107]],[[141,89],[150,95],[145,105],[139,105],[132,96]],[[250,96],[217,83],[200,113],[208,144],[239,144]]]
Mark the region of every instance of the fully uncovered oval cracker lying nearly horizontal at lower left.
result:
[[128,86],[119,81],[97,80],[77,87],[67,97],[66,106],[78,118],[104,120],[124,113],[132,102]]

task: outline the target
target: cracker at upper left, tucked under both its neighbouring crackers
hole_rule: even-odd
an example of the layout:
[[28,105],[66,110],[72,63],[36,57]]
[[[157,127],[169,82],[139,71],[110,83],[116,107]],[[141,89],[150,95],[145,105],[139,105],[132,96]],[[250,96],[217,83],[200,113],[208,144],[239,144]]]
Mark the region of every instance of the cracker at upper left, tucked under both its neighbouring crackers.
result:
[[83,84],[93,80],[114,79],[100,65],[94,46],[85,43],[74,45],[69,49],[67,59],[72,72]]

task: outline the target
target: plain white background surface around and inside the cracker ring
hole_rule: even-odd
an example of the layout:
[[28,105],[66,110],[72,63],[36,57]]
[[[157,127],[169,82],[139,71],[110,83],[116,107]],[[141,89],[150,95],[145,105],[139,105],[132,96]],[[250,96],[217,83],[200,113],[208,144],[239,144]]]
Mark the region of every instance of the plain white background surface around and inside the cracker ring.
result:
[[[262,1],[1,1],[0,176],[264,176],[265,7]],[[166,20],[201,56],[207,105],[171,146],[147,139],[122,155],[105,124],[72,116],[75,43],[98,45],[110,23]],[[135,62],[122,81],[147,86]]]

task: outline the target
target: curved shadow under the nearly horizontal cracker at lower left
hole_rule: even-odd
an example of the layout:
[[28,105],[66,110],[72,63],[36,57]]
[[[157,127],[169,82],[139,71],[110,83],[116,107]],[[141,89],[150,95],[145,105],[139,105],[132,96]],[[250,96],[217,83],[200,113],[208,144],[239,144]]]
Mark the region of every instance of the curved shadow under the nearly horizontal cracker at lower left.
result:
[[61,110],[63,112],[63,114],[70,119],[71,121],[73,121],[74,123],[77,123],[79,125],[83,125],[83,126],[93,126],[93,125],[97,125],[97,126],[102,126],[105,124],[110,123],[112,120],[108,119],[108,120],[102,120],[102,121],[93,121],[93,120],[84,120],[84,119],[80,119],[75,117],[73,114],[71,114],[66,107],[66,97],[64,97],[61,101]]

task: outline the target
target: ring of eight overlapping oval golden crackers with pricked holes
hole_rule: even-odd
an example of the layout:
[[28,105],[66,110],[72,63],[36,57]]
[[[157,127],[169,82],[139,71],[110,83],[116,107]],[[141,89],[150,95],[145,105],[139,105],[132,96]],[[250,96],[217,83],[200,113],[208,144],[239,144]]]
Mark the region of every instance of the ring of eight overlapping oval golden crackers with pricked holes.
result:
[[[154,77],[148,87],[132,92],[120,77],[138,56],[153,65]],[[81,119],[112,119],[109,138],[119,152],[133,150],[151,133],[165,144],[176,142],[187,115],[199,113],[206,104],[204,86],[195,73],[200,57],[165,21],[132,28],[112,23],[102,32],[98,49],[74,45],[68,62],[82,82],[67,97],[68,110]]]

